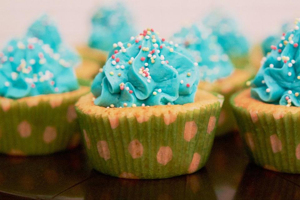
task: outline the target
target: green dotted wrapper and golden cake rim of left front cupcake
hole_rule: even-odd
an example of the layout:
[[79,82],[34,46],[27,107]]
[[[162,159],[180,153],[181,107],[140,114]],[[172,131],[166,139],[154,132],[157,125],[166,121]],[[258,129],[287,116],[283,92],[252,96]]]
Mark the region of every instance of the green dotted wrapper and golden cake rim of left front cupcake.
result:
[[73,104],[88,91],[0,98],[0,153],[43,155],[75,148],[80,134]]

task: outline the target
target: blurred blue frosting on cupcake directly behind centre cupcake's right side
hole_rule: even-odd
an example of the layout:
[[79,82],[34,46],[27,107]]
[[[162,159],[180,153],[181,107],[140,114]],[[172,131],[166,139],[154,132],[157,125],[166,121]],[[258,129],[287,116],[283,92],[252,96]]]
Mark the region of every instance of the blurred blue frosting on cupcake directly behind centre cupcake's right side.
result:
[[212,36],[211,29],[200,29],[194,24],[182,28],[172,39],[192,54],[200,68],[202,81],[213,82],[232,73],[233,65],[216,38]]

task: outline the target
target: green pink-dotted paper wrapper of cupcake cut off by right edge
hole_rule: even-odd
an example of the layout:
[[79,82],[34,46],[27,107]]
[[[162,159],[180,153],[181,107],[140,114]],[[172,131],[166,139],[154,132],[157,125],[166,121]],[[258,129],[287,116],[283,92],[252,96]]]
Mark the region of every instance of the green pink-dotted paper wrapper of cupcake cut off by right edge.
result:
[[230,103],[249,157],[269,170],[300,173],[300,112],[256,113],[236,106],[237,95]]

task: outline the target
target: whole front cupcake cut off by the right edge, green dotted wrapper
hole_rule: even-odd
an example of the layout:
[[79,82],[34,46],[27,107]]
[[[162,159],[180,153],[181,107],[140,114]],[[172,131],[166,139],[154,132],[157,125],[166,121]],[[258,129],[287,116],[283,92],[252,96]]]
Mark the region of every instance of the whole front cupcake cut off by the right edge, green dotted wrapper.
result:
[[300,173],[299,19],[295,23],[272,46],[253,88],[230,100],[250,157],[263,168],[286,173]]

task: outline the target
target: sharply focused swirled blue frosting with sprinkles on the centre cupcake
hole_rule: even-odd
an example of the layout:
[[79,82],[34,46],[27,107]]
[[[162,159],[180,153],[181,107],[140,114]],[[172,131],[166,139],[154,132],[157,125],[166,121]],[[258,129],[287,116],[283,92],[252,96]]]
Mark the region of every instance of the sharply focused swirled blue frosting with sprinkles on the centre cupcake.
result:
[[144,30],[115,49],[93,81],[95,105],[135,107],[194,102],[199,73],[192,55]]

